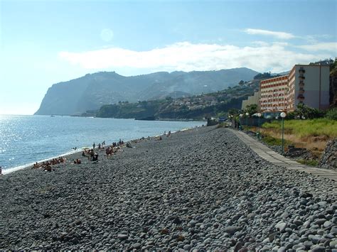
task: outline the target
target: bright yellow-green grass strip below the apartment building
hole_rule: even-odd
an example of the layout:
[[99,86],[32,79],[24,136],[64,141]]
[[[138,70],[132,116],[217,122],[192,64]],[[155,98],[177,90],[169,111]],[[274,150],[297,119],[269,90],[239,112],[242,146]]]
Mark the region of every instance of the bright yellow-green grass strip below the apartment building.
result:
[[[264,123],[262,128],[281,129],[281,121]],[[288,120],[284,121],[284,131],[287,134],[294,134],[299,138],[312,136],[324,136],[328,139],[337,137],[337,121],[327,118],[310,120]]]

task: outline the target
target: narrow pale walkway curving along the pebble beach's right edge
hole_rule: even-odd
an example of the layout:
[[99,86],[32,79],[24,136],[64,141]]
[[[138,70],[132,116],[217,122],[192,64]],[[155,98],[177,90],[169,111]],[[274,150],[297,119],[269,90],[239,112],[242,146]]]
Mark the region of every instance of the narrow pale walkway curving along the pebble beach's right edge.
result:
[[242,142],[247,144],[257,155],[260,155],[261,158],[264,158],[268,162],[283,166],[289,170],[299,170],[303,172],[308,172],[310,174],[328,178],[329,180],[333,180],[337,182],[337,171],[335,170],[328,170],[322,168],[314,168],[309,167],[306,165],[302,165],[301,163],[297,163],[294,160],[290,160],[289,158],[285,158],[283,155],[276,153],[274,150],[268,148],[264,144],[260,143],[259,141],[255,140],[254,138],[248,136],[246,133],[242,131],[236,131],[232,128],[228,128],[229,131],[235,134]]

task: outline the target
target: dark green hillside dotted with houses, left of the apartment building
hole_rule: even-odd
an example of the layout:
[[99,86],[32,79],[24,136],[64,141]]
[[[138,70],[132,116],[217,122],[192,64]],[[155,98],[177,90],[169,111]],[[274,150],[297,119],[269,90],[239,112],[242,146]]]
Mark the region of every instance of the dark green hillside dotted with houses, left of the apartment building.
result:
[[[256,82],[257,84],[258,82]],[[230,109],[238,111],[243,99],[252,95],[256,86],[237,85],[210,94],[173,99],[156,99],[138,103],[119,102],[101,106],[97,117],[135,119],[195,119],[225,116]]]

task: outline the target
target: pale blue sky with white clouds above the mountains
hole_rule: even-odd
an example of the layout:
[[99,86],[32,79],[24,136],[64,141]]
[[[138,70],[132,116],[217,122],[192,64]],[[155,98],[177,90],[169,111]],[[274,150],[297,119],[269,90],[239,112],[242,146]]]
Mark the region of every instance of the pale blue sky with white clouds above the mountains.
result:
[[336,0],[0,0],[0,114],[33,114],[52,84],[87,73],[284,72],[334,59],[336,23]]

